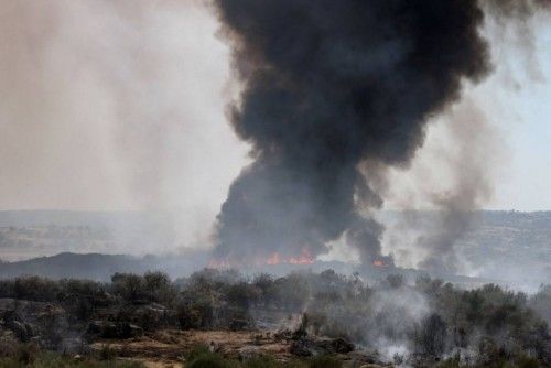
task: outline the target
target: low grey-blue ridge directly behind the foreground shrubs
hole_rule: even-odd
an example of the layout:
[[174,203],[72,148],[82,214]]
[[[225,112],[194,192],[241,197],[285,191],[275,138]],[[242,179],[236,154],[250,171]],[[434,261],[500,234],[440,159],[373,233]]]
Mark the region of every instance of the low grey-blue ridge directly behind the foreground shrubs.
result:
[[[162,271],[172,279],[187,277],[198,271],[208,263],[207,252],[195,252],[191,255],[172,255],[165,257],[130,257],[125,255],[75,255],[60,253],[52,257],[40,257],[19,262],[0,263],[0,279],[11,279],[23,275],[40,275],[50,279],[89,279],[108,281],[116,272],[128,272],[142,274],[147,271]],[[338,261],[317,261],[313,264],[263,264],[247,269],[239,269],[244,274],[253,275],[270,273],[273,275],[285,275],[294,271],[322,272],[332,269],[337,273],[352,274],[358,272],[367,281],[376,282],[385,279],[388,274],[402,274],[406,280],[414,282],[417,278],[425,274],[423,271],[402,268],[364,268],[354,263]],[[433,275],[434,277],[434,275]],[[467,288],[479,286],[483,283],[496,282],[467,278],[462,275],[439,275],[446,282]]]

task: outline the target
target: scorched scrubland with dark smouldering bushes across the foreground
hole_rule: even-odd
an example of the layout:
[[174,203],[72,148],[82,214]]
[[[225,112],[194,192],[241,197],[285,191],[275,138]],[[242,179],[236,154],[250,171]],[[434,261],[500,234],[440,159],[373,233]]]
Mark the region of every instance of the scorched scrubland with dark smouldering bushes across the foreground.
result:
[[349,367],[547,367],[550,301],[549,288],[528,296],[399,274],[367,284],[332,270],[205,269],[173,282],[158,272],[110,283],[29,277],[0,282],[0,351],[12,359],[18,344],[32,344],[91,359],[109,345],[120,359],[175,364],[204,344],[205,359],[245,367],[325,356]]

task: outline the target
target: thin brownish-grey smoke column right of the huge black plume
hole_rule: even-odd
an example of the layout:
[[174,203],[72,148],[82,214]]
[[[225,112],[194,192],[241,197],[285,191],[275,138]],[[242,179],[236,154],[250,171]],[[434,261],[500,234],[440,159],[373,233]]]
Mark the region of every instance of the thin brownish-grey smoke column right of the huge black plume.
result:
[[499,133],[474,101],[455,106],[447,120],[452,147],[442,155],[451,183],[444,192],[428,194],[426,199],[442,212],[434,230],[418,239],[429,255],[421,267],[436,273],[457,272],[455,247],[476,221],[473,209],[490,199],[494,167],[503,155]]

